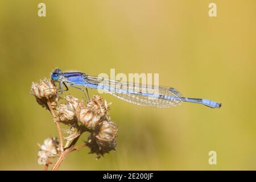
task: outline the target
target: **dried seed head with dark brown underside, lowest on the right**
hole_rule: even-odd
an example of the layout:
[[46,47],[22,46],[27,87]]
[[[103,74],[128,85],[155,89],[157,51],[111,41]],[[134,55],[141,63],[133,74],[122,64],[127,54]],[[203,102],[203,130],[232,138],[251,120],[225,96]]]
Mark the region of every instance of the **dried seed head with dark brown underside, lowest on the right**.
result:
[[105,153],[115,150],[117,147],[115,141],[117,130],[117,126],[113,122],[103,121],[98,129],[90,134],[86,142],[90,148],[90,153],[95,153],[98,155],[97,158],[100,158]]

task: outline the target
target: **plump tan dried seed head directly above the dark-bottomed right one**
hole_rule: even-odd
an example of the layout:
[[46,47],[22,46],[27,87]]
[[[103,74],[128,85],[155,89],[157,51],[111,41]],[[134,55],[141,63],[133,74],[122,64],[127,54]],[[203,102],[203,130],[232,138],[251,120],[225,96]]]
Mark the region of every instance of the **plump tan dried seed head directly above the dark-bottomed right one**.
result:
[[95,129],[108,113],[109,107],[100,96],[94,96],[89,103],[77,111],[77,120],[87,129]]

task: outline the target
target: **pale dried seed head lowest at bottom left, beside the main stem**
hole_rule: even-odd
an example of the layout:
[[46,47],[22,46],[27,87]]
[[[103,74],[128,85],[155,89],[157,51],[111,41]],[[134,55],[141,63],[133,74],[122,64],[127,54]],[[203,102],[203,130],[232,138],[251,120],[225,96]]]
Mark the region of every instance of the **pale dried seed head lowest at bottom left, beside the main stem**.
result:
[[57,138],[47,138],[44,144],[39,145],[38,164],[46,164],[48,158],[54,157],[59,154],[59,140]]

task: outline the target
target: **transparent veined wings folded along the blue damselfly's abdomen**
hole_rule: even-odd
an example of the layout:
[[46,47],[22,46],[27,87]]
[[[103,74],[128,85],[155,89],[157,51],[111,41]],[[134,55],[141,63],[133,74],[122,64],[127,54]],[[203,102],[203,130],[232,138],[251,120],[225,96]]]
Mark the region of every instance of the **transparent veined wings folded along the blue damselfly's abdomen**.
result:
[[88,87],[105,90],[121,100],[151,107],[171,107],[181,103],[181,93],[167,86],[134,84],[106,77],[86,76]]

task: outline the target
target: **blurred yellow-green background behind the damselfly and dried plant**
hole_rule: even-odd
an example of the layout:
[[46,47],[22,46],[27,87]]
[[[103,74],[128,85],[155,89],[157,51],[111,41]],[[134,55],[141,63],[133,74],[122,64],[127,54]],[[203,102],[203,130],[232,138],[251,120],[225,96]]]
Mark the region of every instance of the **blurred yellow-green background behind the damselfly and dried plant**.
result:
[[[46,17],[38,16],[40,2]],[[158,109],[104,94],[119,126],[117,151],[96,160],[84,148],[60,169],[255,170],[256,2],[214,0],[216,18],[208,16],[210,2],[1,0],[0,169],[43,168],[37,143],[57,132],[29,92],[32,81],[59,67],[159,73],[160,85],[222,102],[221,109]],[[217,165],[208,163],[211,150]]]

